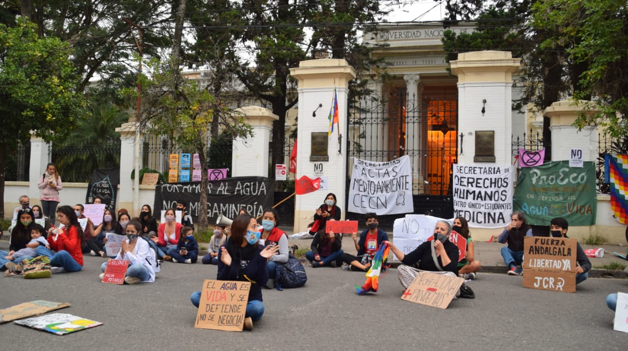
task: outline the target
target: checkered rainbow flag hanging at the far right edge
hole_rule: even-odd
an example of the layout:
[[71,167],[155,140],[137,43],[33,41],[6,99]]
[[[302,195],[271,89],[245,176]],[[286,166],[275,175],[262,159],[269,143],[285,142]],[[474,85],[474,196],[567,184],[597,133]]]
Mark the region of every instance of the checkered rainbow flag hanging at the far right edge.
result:
[[604,155],[604,182],[610,184],[613,217],[628,224],[628,155]]

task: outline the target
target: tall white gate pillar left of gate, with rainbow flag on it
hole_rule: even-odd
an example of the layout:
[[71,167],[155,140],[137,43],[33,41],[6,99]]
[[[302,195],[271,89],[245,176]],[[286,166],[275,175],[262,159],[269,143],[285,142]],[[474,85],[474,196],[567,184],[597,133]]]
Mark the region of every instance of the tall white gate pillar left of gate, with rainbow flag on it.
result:
[[[345,204],[347,188],[347,96],[349,81],[355,78],[355,70],[347,61],[342,59],[320,59],[301,61],[298,68],[291,68],[290,74],[298,79],[299,119],[298,119],[298,152],[296,155],[296,179],[302,175],[315,177],[317,172],[327,177],[328,189],[297,195],[295,199],[295,233],[305,231],[306,226],[313,219],[315,210],[325,200],[328,192],[336,194],[338,207],[342,209],[342,219],[347,209]],[[319,103],[323,104],[322,111],[331,108],[333,88],[336,87],[338,96],[338,127],[328,137],[328,161],[310,161],[311,133],[327,132],[329,121],[327,113],[312,117]],[[342,136],[338,143],[338,137]],[[338,148],[340,147],[340,152]],[[322,165],[322,169],[320,166]],[[317,175],[318,176],[318,175]]]

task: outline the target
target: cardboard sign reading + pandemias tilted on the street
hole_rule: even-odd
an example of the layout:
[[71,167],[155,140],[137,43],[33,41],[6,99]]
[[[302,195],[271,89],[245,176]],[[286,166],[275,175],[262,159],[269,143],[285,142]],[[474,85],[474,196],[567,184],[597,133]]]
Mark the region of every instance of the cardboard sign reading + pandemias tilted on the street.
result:
[[457,276],[420,271],[401,300],[445,309],[464,282]]

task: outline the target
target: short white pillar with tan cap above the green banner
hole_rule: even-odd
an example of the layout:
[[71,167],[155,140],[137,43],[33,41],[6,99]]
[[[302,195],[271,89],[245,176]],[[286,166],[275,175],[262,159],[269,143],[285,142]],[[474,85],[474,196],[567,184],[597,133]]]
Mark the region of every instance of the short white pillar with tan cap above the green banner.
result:
[[[582,130],[572,124],[578,115],[585,112],[587,101],[563,100],[552,103],[543,111],[549,117],[551,131],[551,159],[569,160],[571,149],[582,149],[583,160],[597,160],[597,128],[587,126]],[[595,113],[597,111],[587,111]]]

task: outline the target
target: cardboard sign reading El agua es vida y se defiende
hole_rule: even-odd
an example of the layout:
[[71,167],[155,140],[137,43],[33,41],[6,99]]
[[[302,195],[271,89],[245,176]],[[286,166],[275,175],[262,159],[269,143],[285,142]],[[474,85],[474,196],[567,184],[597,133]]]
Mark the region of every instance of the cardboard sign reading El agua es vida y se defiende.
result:
[[249,289],[248,281],[203,281],[194,327],[242,332]]

